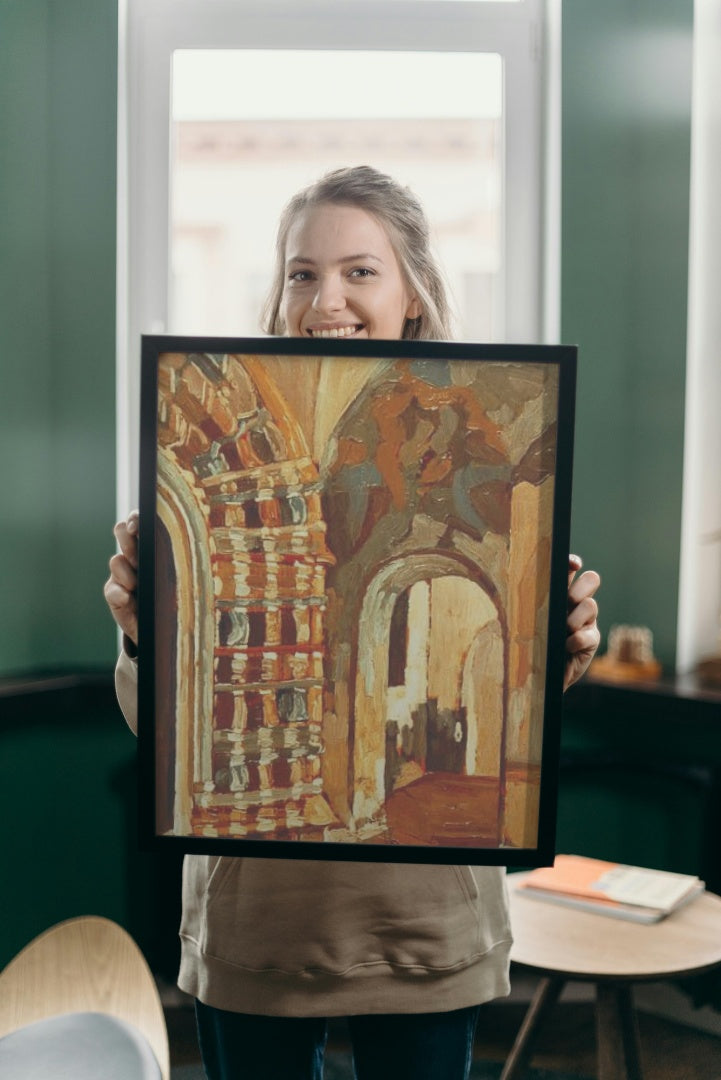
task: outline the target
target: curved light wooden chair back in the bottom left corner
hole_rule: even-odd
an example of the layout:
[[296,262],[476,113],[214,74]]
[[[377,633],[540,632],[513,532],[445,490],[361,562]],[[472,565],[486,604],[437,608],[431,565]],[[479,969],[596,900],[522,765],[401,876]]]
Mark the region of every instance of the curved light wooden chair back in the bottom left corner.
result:
[[133,939],[110,919],[87,915],[58,922],[0,973],[0,1038],[74,1012],[105,1013],[132,1024],[168,1080],[167,1028],[155,981]]

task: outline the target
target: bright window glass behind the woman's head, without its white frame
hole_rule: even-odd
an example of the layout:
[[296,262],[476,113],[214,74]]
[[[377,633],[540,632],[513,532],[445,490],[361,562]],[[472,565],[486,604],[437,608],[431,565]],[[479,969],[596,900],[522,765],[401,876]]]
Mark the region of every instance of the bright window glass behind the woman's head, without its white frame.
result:
[[455,336],[503,336],[498,54],[181,50],[172,108],[171,332],[259,333],[288,198],[372,163],[426,208]]

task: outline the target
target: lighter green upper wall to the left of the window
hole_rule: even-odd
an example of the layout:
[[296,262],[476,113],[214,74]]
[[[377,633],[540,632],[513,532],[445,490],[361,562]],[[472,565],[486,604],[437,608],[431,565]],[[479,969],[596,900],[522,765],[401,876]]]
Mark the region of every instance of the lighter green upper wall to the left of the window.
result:
[[0,676],[112,662],[117,0],[0,0]]

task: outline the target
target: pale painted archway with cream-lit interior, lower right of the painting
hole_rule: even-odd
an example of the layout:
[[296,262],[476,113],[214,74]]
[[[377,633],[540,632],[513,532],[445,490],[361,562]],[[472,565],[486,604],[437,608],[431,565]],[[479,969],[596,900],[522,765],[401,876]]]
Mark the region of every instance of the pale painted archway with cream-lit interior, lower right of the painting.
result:
[[[440,596],[435,595],[436,590]],[[417,597],[414,603],[411,600],[408,620],[416,660],[412,656],[406,658],[407,681],[403,687],[391,688],[389,648],[395,643],[389,635],[394,608],[406,593]],[[434,623],[434,608],[437,604],[445,607],[450,600],[458,610],[461,598],[471,599],[472,604],[459,616],[463,625],[454,639],[449,640],[444,635],[443,622],[439,629]],[[504,613],[498,604],[495,590],[477,567],[444,552],[408,552],[403,558],[381,566],[368,584],[358,623],[357,670],[352,673],[355,683],[352,809],[356,822],[378,816],[390,794],[389,721],[400,730],[408,729],[409,738],[422,721],[423,751],[413,762],[420,771],[424,771],[430,755],[427,721],[438,714],[443,717],[444,713],[457,725],[462,721],[462,771],[490,775],[503,783],[506,643]],[[493,658],[498,663],[487,664],[480,673],[474,671],[474,658],[498,646],[500,656]],[[475,676],[473,685],[468,672]],[[481,702],[486,706],[482,711],[476,708]],[[430,706],[434,710],[431,717]],[[479,730],[481,712],[482,730]],[[433,768],[431,762],[428,768]]]

